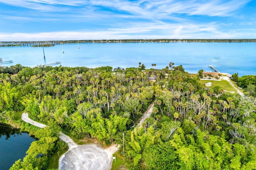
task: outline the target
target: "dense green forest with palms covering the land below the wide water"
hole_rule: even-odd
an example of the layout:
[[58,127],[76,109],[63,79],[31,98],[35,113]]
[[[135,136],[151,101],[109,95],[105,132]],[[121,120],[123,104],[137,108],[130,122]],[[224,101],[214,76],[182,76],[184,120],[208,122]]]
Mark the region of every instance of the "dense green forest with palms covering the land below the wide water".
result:
[[[123,159],[135,170],[255,169],[256,83],[237,83],[246,97],[203,89],[182,65],[0,67],[0,121],[38,138],[11,169],[46,169],[56,148],[66,148],[59,131],[121,146],[124,133]],[[151,103],[152,115],[137,127]],[[26,128],[15,119],[18,111],[48,128]]]

